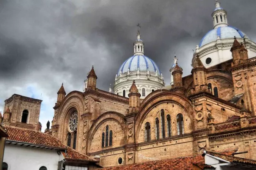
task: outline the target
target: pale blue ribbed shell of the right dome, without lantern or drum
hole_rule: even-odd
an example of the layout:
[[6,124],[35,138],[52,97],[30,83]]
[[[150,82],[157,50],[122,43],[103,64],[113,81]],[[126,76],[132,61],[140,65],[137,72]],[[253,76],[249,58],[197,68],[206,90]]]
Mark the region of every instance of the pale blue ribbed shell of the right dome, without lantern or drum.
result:
[[218,36],[220,37],[220,39],[234,38],[234,36],[236,36],[237,38],[243,38],[245,34],[239,29],[232,26],[218,27],[210,30],[209,32],[207,32],[207,34],[205,34],[199,44],[199,47],[216,41]]

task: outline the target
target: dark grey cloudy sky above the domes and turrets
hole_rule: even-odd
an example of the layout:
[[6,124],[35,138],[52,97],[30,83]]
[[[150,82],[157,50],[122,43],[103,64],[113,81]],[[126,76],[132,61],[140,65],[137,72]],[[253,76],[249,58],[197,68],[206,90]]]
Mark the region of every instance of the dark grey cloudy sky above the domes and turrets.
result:
[[[220,0],[229,25],[256,41],[256,0]],[[94,65],[97,87],[108,90],[119,66],[133,55],[137,23],[145,55],[170,83],[174,52],[183,76],[192,49],[212,29],[215,0],[1,0],[0,110],[14,93],[43,100],[42,131],[53,118],[61,83],[83,90]]]

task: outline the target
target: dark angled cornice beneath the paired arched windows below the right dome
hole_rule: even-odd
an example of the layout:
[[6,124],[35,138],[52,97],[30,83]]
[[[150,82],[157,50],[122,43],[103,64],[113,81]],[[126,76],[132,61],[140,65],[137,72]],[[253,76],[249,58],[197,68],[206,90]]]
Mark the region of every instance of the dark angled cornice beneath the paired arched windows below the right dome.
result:
[[203,92],[199,92],[199,93],[196,93],[196,94],[192,94],[190,96],[188,96],[190,100],[196,100],[196,99],[201,99],[201,98],[206,98],[206,99],[210,99],[210,100],[213,100],[215,102],[218,102],[219,104],[223,104],[225,106],[228,106],[228,107],[232,107],[234,109],[237,109],[237,110],[241,110],[240,107],[238,107],[237,105],[234,105],[226,100],[223,100],[221,98],[218,98],[218,97],[215,97],[214,95],[210,94],[210,93],[207,93],[205,91]]

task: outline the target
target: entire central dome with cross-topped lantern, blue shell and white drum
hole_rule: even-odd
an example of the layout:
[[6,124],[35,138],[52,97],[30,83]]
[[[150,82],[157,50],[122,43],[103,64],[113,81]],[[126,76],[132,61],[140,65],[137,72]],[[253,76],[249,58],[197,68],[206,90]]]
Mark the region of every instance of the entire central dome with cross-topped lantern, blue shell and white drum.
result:
[[137,40],[133,43],[134,53],[118,69],[113,91],[120,96],[128,97],[129,89],[135,80],[141,99],[149,93],[164,86],[163,75],[159,67],[144,55],[144,42],[140,39],[138,25]]

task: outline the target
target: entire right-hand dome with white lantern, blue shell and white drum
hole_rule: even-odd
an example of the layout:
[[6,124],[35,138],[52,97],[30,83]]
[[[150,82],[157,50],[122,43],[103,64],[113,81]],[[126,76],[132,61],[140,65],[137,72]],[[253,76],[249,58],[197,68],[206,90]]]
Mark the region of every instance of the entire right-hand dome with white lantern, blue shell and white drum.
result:
[[214,12],[212,12],[213,29],[207,32],[196,50],[192,63],[197,55],[206,68],[232,59],[231,47],[234,37],[243,43],[248,50],[248,57],[256,56],[256,43],[239,29],[228,25],[227,12],[221,8],[220,2],[216,0]]

